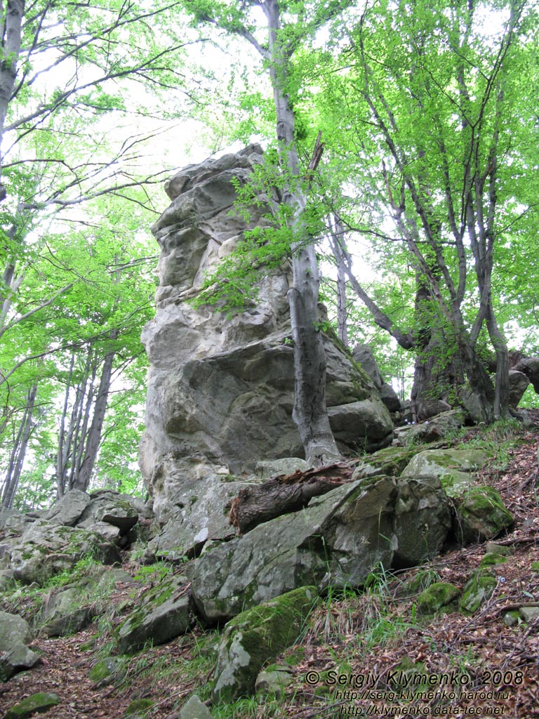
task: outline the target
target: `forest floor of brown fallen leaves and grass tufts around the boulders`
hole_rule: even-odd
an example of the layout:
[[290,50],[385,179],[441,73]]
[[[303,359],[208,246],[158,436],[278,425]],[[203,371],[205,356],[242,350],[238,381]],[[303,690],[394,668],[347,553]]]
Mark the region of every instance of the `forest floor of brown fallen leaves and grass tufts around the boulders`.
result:
[[[474,444],[478,433],[471,429],[464,441]],[[499,491],[515,517],[514,530],[496,540],[510,548],[510,554],[505,564],[490,567],[497,575],[497,588],[473,615],[453,612],[420,618],[414,597],[404,595],[402,586],[427,571],[434,580],[462,587],[479,567],[484,544],[451,549],[420,569],[378,572],[361,593],[328,595],[313,611],[298,645],[277,659],[279,664],[287,661],[292,674],[280,697],[212,707],[219,635],[218,630],[203,628],[127,658],[121,678],[97,688],[88,670],[110,656],[111,628],[121,621],[124,603],[134,600],[134,592],[142,595],[148,582],[159,581],[148,574],[135,587],[117,585],[106,617],[88,630],[64,638],[38,637],[32,648],[42,653],[42,664],[0,684],[0,717],[3,709],[27,695],[55,692],[63,701],[40,716],[120,719],[131,702],[147,698],[154,702],[148,719],[173,719],[185,700],[197,693],[218,719],[539,718],[539,616],[515,626],[504,622],[511,608],[538,605],[539,600],[539,571],[532,569],[533,562],[539,562],[539,426],[521,430],[517,444],[507,439],[491,440],[499,441],[499,452],[479,480]],[[125,568],[133,571],[132,562],[126,561]],[[426,684],[406,684],[419,674]],[[339,675],[345,684],[333,682]]]

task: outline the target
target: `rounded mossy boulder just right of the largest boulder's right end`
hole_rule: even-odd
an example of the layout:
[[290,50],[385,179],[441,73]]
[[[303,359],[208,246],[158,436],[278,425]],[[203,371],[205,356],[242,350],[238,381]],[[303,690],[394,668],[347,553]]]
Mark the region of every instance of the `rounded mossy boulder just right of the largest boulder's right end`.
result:
[[494,487],[474,487],[457,508],[457,536],[464,543],[485,541],[509,529],[514,521]]

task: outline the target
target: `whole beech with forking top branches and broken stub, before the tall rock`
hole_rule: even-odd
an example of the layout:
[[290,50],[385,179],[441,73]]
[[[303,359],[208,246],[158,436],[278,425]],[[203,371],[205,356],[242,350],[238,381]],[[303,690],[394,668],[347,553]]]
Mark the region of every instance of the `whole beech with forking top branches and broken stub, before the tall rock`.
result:
[[[318,261],[315,240],[305,219],[305,187],[309,173],[320,160],[318,140],[310,167],[302,170],[296,142],[294,102],[300,73],[293,58],[305,39],[337,17],[351,1],[288,2],[284,0],[244,0],[241,3],[193,0],[185,6],[196,23],[210,23],[247,40],[259,53],[269,74],[276,119],[277,153],[281,171],[280,213],[292,236],[290,242],[292,287],[288,293],[292,337],[294,340],[295,399],[293,418],[312,464],[323,464],[339,452],[331,434],[326,411],[326,355],[318,317]],[[267,37],[259,40],[262,11]]]

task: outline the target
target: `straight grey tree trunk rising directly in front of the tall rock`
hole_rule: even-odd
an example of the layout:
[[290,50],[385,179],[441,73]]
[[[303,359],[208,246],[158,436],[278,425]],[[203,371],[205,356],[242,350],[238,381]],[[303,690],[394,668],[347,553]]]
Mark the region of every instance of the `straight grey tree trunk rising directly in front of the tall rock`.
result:
[[320,466],[340,457],[326,409],[326,351],[318,326],[318,261],[314,239],[303,224],[305,196],[295,145],[295,117],[285,88],[289,81],[290,51],[280,33],[277,0],[264,3],[270,33],[270,76],[277,114],[277,143],[284,173],[289,178],[283,202],[290,208],[293,284],[288,293],[294,339],[294,410],[292,416],[305,449],[305,459]]

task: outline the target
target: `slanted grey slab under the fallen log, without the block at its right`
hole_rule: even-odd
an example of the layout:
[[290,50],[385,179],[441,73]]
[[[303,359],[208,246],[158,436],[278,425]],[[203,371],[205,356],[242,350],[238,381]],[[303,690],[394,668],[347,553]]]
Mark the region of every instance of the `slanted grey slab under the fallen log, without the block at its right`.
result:
[[211,546],[189,570],[196,607],[217,621],[303,585],[361,585],[379,562],[391,566],[396,498],[390,477],[352,482]]

